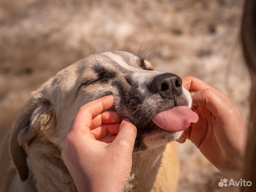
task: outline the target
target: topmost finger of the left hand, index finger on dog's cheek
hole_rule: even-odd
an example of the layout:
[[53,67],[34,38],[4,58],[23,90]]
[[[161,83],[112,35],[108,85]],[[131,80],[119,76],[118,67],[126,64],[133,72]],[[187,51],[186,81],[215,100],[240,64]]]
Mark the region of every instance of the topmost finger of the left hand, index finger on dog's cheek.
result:
[[74,124],[72,129],[81,129],[91,126],[92,118],[107,110],[114,105],[114,97],[112,95],[99,98],[92,102],[85,104],[80,107],[78,113],[76,114]]

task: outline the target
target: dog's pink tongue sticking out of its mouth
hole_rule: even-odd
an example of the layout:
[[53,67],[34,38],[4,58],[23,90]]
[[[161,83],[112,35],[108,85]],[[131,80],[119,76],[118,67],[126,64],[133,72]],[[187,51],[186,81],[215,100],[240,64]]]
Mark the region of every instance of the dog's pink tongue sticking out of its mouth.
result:
[[178,132],[187,129],[190,123],[196,123],[198,115],[187,106],[179,106],[158,113],[152,121],[162,129]]

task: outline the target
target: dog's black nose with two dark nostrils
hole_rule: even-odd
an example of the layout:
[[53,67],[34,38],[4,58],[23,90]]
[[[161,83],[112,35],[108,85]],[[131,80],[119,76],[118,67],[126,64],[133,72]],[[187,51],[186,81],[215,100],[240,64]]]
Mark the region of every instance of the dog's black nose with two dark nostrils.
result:
[[164,73],[157,75],[151,80],[149,88],[152,92],[158,93],[162,98],[173,98],[182,93],[182,80],[178,75]]

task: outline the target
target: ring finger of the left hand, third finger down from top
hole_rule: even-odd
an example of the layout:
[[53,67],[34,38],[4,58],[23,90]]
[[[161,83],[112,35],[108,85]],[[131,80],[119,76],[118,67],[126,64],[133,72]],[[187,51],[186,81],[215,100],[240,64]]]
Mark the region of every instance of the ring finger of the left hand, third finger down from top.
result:
[[120,123],[103,124],[95,129],[91,130],[91,134],[95,139],[100,140],[107,137],[109,134],[117,134],[120,127]]

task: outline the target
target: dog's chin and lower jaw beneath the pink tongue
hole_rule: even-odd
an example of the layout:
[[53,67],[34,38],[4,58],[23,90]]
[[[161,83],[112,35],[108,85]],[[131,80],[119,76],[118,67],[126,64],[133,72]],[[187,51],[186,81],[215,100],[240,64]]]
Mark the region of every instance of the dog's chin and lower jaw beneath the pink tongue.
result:
[[161,129],[155,124],[151,127],[140,128],[137,131],[134,152],[166,145],[167,143],[178,140],[182,133],[183,131],[171,132]]

